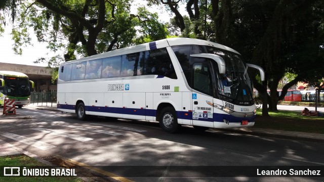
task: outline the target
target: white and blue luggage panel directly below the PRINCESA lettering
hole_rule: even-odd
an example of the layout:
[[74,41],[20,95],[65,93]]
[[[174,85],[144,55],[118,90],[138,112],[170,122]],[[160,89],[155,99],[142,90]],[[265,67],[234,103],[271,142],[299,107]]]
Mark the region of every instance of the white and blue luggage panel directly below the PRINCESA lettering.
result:
[[123,118],[123,93],[105,93],[106,116]]

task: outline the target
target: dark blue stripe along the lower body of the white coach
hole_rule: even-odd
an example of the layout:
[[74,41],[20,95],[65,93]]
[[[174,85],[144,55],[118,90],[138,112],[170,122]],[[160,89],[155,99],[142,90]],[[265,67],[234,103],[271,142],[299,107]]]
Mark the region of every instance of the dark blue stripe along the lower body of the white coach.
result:
[[[58,104],[58,109],[68,109],[75,110],[74,105],[63,105]],[[98,106],[86,106],[86,111],[92,112],[105,112],[105,113],[114,113],[114,114],[129,114],[129,115],[139,115],[139,116],[156,116],[156,110],[154,109],[134,109],[134,108],[116,108],[116,107],[98,107]],[[186,111],[177,111],[177,117],[179,119],[188,119],[192,120],[192,112]],[[207,122],[224,122],[224,119],[228,120],[231,123],[240,123],[243,120],[248,122],[254,122],[256,116],[248,118],[238,118],[229,114],[219,114],[213,113],[213,118],[199,118],[199,121]]]

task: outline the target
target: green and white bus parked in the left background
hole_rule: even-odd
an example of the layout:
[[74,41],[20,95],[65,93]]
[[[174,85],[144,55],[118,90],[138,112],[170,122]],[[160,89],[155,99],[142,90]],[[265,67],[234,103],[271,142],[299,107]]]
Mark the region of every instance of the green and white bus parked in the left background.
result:
[[30,85],[34,88],[34,82],[28,79],[24,73],[15,71],[0,71],[0,106],[5,99],[15,99],[16,106],[22,108],[30,103]]

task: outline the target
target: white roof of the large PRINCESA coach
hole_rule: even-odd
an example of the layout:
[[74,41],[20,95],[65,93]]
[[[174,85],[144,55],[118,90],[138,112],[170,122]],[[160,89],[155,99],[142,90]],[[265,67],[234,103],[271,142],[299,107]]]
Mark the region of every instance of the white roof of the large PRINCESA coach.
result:
[[166,39],[161,39],[161,40],[156,40],[152,41],[149,43],[143,43],[139,45],[133,45],[131,47],[127,48],[121,48],[85,58],[81,58],[78,60],[73,60],[73,61],[68,61],[62,63],[64,64],[69,64],[72,62],[79,62],[79,61],[88,61],[88,60],[95,60],[95,59],[101,59],[101,58],[107,58],[107,57],[113,57],[113,56],[119,56],[119,55],[125,55],[125,54],[132,54],[132,53],[137,53],[137,52],[142,52],[142,51],[149,51],[153,49],[160,49],[160,48],[166,48],[169,46],[174,46],[174,45],[209,45],[215,48],[219,48],[222,50],[226,51],[231,51],[236,54],[239,54],[237,51],[226,47],[225,45],[215,43],[212,41],[207,41],[207,40],[201,40],[201,39],[195,39],[195,38],[166,38]]

